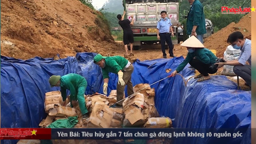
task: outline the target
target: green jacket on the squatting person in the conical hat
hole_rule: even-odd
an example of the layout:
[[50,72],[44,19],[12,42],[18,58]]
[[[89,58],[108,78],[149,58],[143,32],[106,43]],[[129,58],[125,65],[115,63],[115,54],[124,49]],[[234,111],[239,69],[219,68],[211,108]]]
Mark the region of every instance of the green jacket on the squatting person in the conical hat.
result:
[[193,60],[194,57],[205,64],[213,64],[218,59],[210,50],[206,48],[196,48],[195,52],[188,52],[186,59],[178,66],[178,68],[176,68],[176,70],[178,72],[183,70],[188,62]]

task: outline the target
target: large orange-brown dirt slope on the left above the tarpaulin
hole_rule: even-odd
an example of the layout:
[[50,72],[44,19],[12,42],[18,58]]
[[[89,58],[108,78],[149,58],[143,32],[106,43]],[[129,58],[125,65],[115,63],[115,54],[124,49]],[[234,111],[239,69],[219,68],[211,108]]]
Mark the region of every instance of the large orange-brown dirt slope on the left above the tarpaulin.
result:
[[114,55],[123,45],[101,18],[78,0],[2,0],[1,54],[18,59],[76,52]]

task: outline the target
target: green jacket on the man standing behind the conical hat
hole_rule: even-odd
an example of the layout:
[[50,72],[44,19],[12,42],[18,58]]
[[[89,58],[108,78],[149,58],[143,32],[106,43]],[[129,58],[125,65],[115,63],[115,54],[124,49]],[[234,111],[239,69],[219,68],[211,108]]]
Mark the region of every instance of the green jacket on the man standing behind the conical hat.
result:
[[187,19],[187,35],[191,35],[193,26],[197,26],[196,34],[206,34],[205,20],[204,20],[204,9],[203,5],[199,0],[195,0],[188,12]]

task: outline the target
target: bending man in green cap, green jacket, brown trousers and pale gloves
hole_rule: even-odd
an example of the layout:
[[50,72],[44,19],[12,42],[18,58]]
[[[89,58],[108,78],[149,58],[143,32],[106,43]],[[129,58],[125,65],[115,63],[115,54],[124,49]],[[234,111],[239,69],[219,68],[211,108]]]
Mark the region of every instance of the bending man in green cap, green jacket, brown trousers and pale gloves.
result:
[[[132,72],[133,66],[132,63],[126,60],[124,57],[121,56],[113,56],[113,57],[103,57],[100,54],[97,54],[94,59],[94,63],[99,65],[102,69],[103,74],[103,93],[107,95],[108,89],[108,79],[109,79],[109,72],[118,74],[118,83],[116,87],[116,99],[120,101],[124,97],[124,88],[127,85],[127,93],[128,95],[133,94],[133,87],[132,87]],[[116,104],[117,108],[123,107],[123,101],[118,102]]]

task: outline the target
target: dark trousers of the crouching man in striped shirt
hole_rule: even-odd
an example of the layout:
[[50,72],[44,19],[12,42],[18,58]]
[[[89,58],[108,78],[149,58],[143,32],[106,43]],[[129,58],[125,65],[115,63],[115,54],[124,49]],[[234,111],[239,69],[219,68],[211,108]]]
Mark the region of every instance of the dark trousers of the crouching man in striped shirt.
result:
[[252,86],[252,66],[251,65],[234,66],[233,71],[237,76],[242,77],[250,87]]

